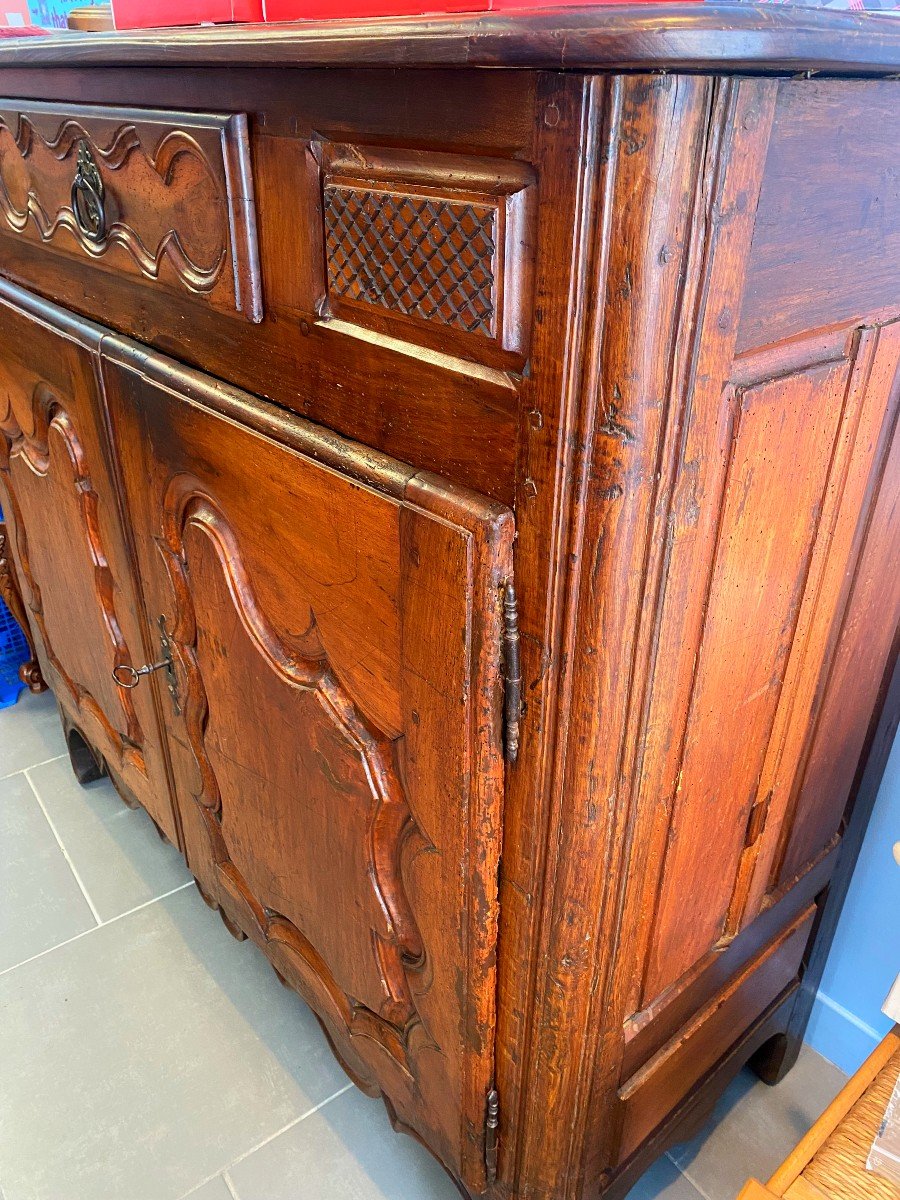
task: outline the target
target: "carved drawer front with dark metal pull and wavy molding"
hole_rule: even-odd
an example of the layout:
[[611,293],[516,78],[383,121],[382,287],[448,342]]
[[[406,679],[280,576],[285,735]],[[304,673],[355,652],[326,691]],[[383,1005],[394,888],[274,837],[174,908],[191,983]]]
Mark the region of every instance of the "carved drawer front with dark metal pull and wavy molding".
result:
[[262,318],[241,114],[0,100],[0,232]]

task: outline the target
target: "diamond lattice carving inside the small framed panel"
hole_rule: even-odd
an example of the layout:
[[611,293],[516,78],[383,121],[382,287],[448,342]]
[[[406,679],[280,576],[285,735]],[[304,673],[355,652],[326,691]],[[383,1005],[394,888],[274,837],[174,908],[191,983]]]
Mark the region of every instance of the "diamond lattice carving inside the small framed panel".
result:
[[332,295],[493,335],[497,210],[487,204],[325,188]]

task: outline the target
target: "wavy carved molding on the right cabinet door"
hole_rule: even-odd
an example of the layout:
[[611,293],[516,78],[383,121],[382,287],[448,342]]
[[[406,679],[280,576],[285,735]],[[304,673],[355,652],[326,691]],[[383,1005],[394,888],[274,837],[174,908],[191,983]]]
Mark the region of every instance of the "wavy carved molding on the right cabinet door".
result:
[[[401,877],[401,856],[410,838],[427,845],[415,824],[396,766],[396,745],[377,731],[360,713],[329,662],[316,628],[314,617],[302,638],[302,650],[288,648],[260,612],[245,574],[240,547],[233,530],[198,480],[175,476],[163,504],[164,536],[161,550],[175,594],[176,613],[172,643],[186,680],[184,720],[187,740],[197,762],[200,805],[220,886],[247,910],[263,938],[286,952],[292,965],[312,983],[319,1000],[340,1016],[348,1032],[379,1043],[409,1073],[408,1045],[413,1031],[422,1025],[413,1000],[410,976],[422,986],[426,953]],[[365,763],[372,797],[367,821],[366,878],[373,889],[376,907],[384,914],[382,928],[372,928],[372,952],[384,988],[378,1012],[348,996],[331,968],[306,935],[284,914],[266,907],[232,860],[222,833],[222,796],[205,744],[209,701],[200,673],[198,626],[191,586],[186,574],[184,536],[188,527],[199,527],[209,538],[240,611],[241,623],[263,650],[274,672],[286,682],[311,692],[322,713]]]

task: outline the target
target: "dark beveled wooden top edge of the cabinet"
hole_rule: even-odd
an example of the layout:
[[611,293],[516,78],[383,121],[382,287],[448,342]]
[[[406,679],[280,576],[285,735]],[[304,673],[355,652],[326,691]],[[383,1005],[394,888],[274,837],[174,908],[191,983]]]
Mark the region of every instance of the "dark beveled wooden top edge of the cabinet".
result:
[[0,43],[0,66],[370,66],[900,73],[900,19],[772,5],[647,4],[515,16],[59,34]]

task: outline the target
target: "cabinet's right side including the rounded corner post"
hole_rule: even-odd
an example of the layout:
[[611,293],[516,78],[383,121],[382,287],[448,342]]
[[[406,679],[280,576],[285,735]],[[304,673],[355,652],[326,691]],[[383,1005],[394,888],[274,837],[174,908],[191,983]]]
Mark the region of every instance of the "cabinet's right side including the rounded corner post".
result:
[[[601,332],[578,426],[570,682],[517,1164],[535,1194],[532,1181],[566,1200],[624,1193],[700,1093],[704,1105],[716,1078],[794,1027],[900,617],[896,557],[871,553],[895,486],[900,292],[868,271],[881,251],[859,226],[882,194],[894,223],[900,210],[893,181],[834,169],[844,126],[829,120],[848,106],[846,130],[881,161],[866,114],[888,119],[890,85],[841,86],[608,88]],[[796,119],[820,227],[845,256],[846,295],[829,276],[822,325],[815,307],[802,323],[790,269],[773,266],[775,246],[792,253],[790,224],[772,226],[790,211]],[[805,227],[798,239],[811,260]],[[748,341],[767,313],[770,338]],[[860,600],[872,571],[886,636]]]

